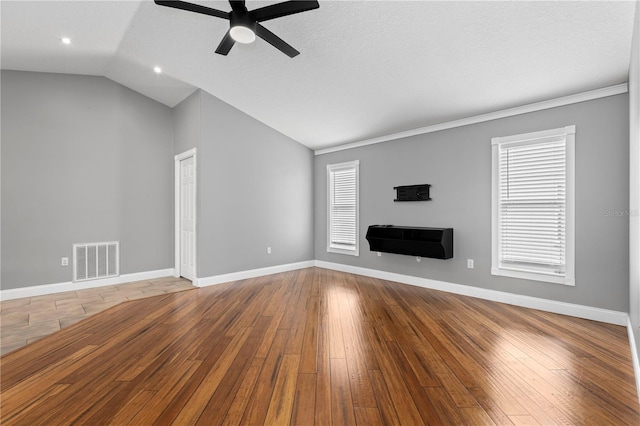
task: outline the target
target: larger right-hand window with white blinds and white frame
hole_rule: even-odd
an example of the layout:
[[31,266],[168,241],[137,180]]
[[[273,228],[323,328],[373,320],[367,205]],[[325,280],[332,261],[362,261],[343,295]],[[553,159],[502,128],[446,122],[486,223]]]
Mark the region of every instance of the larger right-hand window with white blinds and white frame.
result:
[[491,145],[491,273],[575,285],[575,126]]

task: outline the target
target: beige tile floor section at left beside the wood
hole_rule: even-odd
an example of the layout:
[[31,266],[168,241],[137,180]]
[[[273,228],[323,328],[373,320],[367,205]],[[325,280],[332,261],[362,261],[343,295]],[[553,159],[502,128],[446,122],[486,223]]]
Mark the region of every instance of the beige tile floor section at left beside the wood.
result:
[[21,348],[127,300],[193,289],[165,277],[0,302],[0,355]]

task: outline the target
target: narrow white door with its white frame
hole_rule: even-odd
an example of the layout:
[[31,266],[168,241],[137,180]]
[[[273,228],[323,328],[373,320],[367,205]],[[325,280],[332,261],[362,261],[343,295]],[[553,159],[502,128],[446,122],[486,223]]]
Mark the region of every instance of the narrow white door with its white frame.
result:
[[195,285],[196,149],[175,156],[175,269]]

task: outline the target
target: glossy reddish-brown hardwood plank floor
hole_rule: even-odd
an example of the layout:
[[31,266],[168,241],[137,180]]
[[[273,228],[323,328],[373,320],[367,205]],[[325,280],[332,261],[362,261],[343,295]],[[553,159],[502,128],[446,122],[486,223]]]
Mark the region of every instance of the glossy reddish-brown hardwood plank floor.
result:
[[0,358],[3,425],[640,424],[625,328],[310,268]]

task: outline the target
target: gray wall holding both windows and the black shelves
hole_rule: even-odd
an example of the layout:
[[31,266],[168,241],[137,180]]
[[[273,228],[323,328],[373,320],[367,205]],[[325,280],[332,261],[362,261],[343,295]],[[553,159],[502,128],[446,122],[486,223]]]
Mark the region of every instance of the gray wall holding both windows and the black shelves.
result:
[[[491,275],[491,138],[576,125],[576,286]],[[626,312],[629,297],[627,95],[316,156],[316,259]],[[360,160],[360,256],[326,251],[326,164]],[[394,203],[429,183],[432,201]],[[368,225],[454,228],[454,258],[369,251]],[[466,260],[475,260],[475,269]]]

